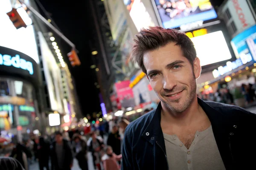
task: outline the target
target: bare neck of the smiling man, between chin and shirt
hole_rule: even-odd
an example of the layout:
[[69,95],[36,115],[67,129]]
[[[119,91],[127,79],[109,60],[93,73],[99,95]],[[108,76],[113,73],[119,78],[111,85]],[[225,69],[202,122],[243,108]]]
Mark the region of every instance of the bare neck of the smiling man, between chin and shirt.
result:
[[204,114],[203,109],[198,104],[198,99],[195,96],[189,108],[181,113],[173,112],[161,102],[161,122],[172,123],[172,125],[187,126]]

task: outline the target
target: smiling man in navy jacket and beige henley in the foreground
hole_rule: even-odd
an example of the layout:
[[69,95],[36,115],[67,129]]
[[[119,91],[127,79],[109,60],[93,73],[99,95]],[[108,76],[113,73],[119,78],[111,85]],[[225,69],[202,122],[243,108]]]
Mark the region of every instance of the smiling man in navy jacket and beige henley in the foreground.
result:
[[256,115],[197,98],[200,61],[185,34],[143,29],[131,56],[160,99],[125,131],[122,170],[255,169]]

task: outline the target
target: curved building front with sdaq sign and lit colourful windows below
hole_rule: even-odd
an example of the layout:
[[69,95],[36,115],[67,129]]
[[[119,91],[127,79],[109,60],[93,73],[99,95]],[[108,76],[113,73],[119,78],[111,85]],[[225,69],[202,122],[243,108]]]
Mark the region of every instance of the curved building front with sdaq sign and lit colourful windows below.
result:
[[24,137],[40,129],[37,88],[38,64],[35,60],[19,51],[0,46],[1,134],[23,134]]

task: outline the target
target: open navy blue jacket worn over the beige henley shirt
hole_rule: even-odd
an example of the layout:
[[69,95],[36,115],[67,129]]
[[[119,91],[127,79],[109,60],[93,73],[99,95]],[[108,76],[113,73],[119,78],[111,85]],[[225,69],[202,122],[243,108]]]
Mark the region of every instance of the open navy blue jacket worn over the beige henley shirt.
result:
[[[243,108],[198,99],[212,124],[212,130],[226,170],[256,169],[256,115]],[[161,105],[125,130],[122,170],[169,170]]]

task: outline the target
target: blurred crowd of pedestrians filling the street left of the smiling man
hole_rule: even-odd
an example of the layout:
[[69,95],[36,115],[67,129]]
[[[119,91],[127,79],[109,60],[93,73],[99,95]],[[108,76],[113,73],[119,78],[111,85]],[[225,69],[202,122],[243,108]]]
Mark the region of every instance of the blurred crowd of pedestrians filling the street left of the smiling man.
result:
[[[76,159],[81,170],[88,170],[87,156],[90,153],[95,169],[119,170],[122,139],[128,124],[127,119],[119,119],[104,122],[102,125],[106,128],[103,128],[103,133],[100,133],[101,128],[94,127],[88,134],[76,129],[57,131],[52,136],[31,136],[26,141],[13,143],[12,152],[3,157],[5,163],[1,158],[0,169],[30,170],[30,165],[38,162],[40,170],[70,170],[73,159]],[[17,162],[16,169],[13,161]]]

